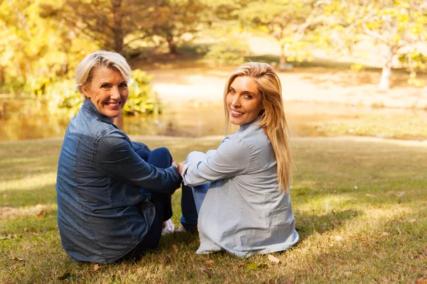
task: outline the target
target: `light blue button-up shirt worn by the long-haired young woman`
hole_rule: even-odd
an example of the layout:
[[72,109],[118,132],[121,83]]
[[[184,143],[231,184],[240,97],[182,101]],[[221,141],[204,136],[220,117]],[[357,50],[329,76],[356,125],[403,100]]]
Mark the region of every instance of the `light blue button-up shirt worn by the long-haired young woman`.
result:
[[289,192],[278,190],[274,151],[258,121],[224,138],[216,151],[186,159],[186,185],[211,182],[199,212],[196,253],[251,256],[284,251],[299,239]]

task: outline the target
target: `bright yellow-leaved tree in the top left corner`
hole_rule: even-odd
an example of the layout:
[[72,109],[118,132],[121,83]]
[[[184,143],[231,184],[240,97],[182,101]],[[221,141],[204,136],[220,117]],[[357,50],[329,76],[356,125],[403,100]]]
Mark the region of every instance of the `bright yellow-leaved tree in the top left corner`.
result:
[[73,38],[64,21],[43,15],[41,6],[46,4],[54,1],[0,2],[0,83],[34,85],[68,72],[68,62],[75,56],[68,53]]

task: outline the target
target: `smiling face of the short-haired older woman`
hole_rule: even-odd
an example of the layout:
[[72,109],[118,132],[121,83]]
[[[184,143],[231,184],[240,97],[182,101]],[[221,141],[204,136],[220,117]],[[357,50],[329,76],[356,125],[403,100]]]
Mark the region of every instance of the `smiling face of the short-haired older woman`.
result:
[[108,116],[111,121],[122,113],[125,107],[129,89],[122,74],[107,67],[98,67],[89,86],[83,87],[83,92],[97,110]]

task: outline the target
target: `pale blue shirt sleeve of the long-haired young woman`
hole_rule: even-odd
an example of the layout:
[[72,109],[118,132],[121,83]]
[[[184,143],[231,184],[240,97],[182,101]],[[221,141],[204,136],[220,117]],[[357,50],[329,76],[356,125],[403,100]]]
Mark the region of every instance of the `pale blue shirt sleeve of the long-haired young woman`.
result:
[[248,172],[251,152],[236,137],[227,136],[209,155],[191,152],[182,170],[185,185],[197,186]]

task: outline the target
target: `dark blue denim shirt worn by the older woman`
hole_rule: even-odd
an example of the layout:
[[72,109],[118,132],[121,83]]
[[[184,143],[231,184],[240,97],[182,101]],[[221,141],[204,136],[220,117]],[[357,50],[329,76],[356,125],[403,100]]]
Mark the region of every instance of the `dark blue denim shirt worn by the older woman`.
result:
[[155,168],[135,153],[149,148],[130,141],[86,99],[70,120],[58,160],[58,228],[74,261],[110,263],[137,246],[155,209],[149,193],[173,192],[175,166]]

